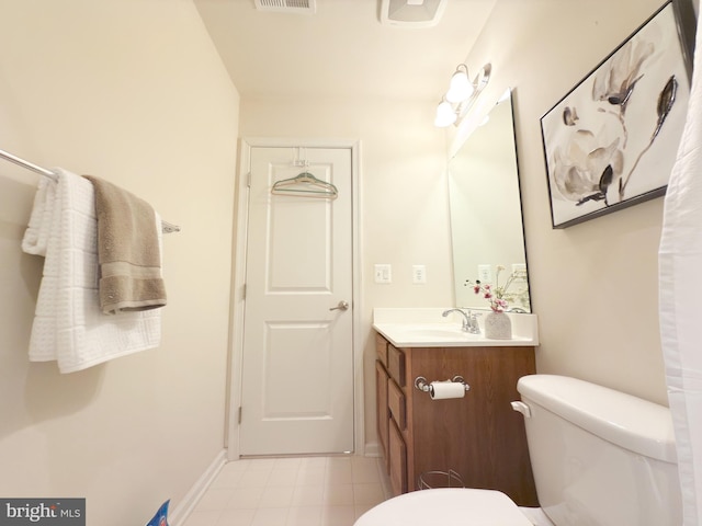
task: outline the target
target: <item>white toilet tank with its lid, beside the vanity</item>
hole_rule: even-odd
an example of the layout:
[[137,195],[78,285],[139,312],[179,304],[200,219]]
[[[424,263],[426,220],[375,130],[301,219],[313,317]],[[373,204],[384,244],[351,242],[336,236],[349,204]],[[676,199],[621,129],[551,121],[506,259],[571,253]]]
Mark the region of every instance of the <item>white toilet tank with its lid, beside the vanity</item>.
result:
[[517,386],[536,493],[556,526],[679,526],[670,410],[575,378]]

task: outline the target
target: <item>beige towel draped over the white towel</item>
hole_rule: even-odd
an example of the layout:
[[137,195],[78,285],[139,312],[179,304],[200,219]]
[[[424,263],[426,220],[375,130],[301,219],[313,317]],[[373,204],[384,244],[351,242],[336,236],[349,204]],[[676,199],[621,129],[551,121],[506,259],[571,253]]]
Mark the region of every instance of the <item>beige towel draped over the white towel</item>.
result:
[[84,178],[95,188],[100,308],[113,315],[163,307],[158,214],[148,203],[112,183]]

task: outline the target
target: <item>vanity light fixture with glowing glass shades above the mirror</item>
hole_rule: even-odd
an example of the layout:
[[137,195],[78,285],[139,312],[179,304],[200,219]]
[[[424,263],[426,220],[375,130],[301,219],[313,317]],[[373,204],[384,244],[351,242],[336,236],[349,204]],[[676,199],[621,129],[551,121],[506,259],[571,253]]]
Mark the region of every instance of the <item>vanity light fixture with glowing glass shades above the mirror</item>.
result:
[[490,64],[486,64],[475,79],[471,80],[468,67],[460,64],[451,77],[449,91],[437,107],[434,126],[439,128],[445,128],[452,124],[457,126],[490,80],[491,69]]

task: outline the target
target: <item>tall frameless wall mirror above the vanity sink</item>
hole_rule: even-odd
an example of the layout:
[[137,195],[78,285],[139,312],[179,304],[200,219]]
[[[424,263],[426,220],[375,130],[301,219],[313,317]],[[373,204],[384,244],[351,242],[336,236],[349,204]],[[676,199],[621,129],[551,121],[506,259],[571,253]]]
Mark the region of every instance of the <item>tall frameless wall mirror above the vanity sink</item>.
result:
[[[449,161],[455,306],[487,309],[476,279],[531,312],[510,90]],[[469,283],[468,283],[469,282]]]

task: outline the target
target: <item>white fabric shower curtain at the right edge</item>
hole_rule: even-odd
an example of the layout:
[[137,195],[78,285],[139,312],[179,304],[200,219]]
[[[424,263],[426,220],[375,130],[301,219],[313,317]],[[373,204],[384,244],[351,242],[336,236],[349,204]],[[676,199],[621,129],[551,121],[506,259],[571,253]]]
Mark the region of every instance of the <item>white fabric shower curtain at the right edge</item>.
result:
[[694,56],[688,119],[666,193],[658,254],[660,334],[676,431],[683,526],[699,526],[702,521],[701,30],[697,33],[695,48],[700,53]]

